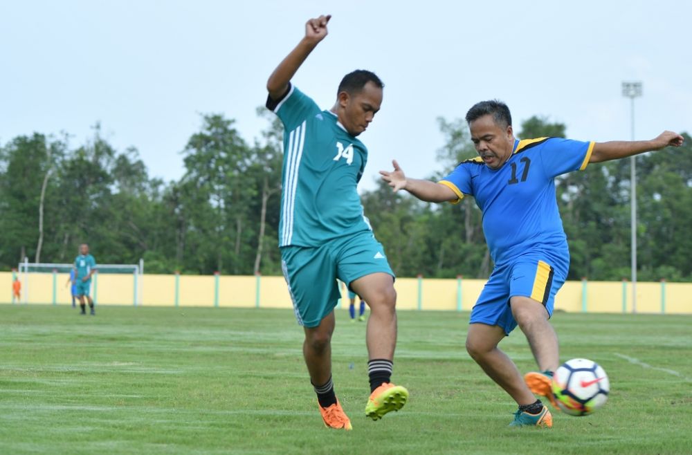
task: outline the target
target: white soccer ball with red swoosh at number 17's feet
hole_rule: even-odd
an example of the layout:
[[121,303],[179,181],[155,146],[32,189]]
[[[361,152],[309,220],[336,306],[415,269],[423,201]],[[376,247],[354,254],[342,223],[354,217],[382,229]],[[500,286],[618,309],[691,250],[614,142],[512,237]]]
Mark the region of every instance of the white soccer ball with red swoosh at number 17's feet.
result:
[[608,401],[608,392],[608,375],[591,360],[567,360],[553,375],[555,400],[558,407],[570,416],[592,414]]

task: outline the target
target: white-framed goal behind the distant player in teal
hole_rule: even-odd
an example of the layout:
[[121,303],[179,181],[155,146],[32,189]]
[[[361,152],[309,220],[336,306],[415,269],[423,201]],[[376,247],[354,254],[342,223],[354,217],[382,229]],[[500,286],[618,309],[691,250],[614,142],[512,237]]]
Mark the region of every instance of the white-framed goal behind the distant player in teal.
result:
[[[28,258],[24,258],[17,267],[17,276],[22,284],[21,303],[57,305],[70,301],[71,286],[65,284],[73,268],[73,263],[30,263]],[[140,305],[143,273],[143,259],[136,264],[98,264],[91,279],[91,298],[94,304]],[[99,294],[100,280],[109,281],[108,288],[116,289],[117,293]]]

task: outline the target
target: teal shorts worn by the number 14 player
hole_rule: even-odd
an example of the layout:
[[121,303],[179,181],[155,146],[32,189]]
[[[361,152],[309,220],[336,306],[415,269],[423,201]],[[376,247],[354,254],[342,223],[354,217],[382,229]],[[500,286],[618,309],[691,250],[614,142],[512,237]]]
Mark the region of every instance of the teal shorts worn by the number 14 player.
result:
[[384,248],[372,232],[336,239],[317,247],[284,246],[281,265],[298,324],[320,325],[341,298],[336,279],[351,283],[372,273],[394,277]]

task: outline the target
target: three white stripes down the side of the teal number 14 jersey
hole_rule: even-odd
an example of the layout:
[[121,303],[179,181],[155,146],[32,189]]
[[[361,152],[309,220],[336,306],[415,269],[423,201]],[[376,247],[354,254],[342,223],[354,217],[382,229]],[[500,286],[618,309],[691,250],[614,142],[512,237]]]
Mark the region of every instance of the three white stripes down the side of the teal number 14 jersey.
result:
[[298,190],[298,169],[305,144],[305,121],[289,133],[289,149],[286,153],[286,176],[284,178],[284,201],[282,205],[281,245],[290,245],[293,238],[293,218],[295,215],[295,194]]

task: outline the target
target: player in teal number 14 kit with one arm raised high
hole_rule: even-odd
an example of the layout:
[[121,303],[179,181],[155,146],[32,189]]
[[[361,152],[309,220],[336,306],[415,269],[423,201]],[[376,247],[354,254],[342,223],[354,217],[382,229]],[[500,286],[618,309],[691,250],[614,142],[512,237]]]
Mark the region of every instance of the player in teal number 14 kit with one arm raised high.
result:
[[351,421],[331,378],[337,278],[370,305],[366,416],[377,420],[398,411],[408,391],[390,380],[397,342],[394,273],[363,216],[356,190],[367,161],[367,149],[357,136],[379,111],[383,84],[370,71],[349,73],[338,86],[334,106],[322,110],[291,83],[327,36],[329,19],[307,21],[305,36],[267,81],[266,106],[284,124],[279,246],[295,316],[304,328],[305,363],[325,425],[349,430]]

